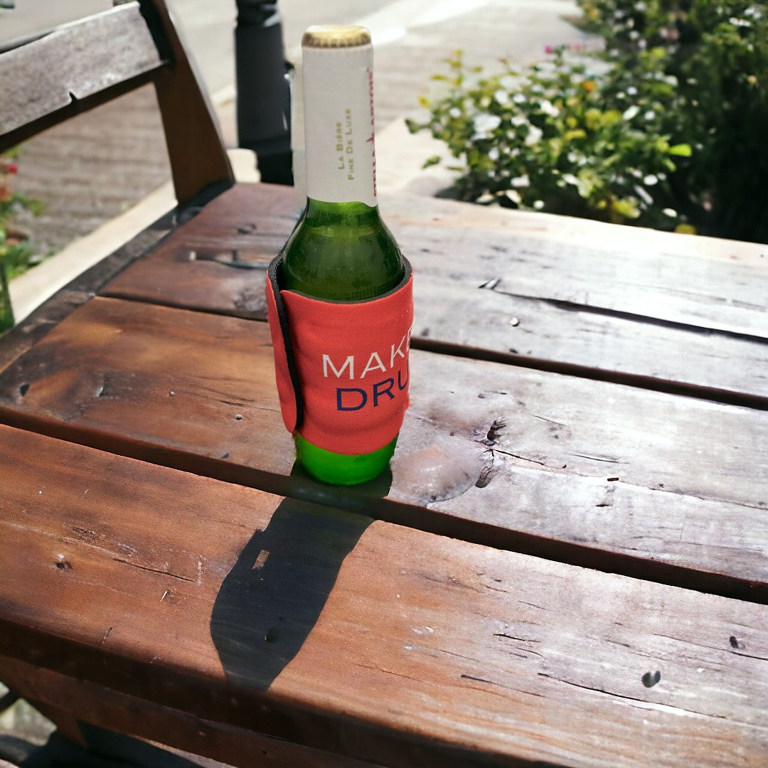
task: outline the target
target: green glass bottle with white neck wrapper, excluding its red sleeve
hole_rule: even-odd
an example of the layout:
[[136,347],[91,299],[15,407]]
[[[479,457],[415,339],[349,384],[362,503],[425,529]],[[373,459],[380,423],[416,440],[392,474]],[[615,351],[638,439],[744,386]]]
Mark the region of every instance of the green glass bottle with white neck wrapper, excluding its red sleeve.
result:
[[[302,48],[307,200],[283,249],[281,287],[317,299],[371,299],[401,282],[404,265],[376,204],[370,34],[354,26],[310,27]],[[339,485],[375,478],[395,443],[346,455],[296,434],[307,471]]]

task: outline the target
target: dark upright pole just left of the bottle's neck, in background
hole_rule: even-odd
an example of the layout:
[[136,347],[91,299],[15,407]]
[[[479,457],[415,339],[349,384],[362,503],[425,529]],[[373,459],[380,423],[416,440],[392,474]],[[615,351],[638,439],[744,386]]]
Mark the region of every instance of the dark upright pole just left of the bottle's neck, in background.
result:
[[293,184],[291,65],[277,2],[237,0],[235,68],[238,143],[256,152],[262,181]]

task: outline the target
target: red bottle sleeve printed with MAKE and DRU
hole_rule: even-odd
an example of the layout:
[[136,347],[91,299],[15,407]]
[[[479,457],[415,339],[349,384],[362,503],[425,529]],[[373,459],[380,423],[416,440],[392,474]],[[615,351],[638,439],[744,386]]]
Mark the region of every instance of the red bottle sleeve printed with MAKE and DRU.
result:
[[277,390],[289,432],[326,451],[357,455],[392,442],[408,407],[412,271],[364,301],[314,299],[280,290],[281,257],[266,298]]

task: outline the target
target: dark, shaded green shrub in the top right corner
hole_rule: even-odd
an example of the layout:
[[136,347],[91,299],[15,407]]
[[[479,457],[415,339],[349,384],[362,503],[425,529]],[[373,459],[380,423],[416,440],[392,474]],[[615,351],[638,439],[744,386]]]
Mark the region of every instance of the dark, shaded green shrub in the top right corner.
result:
[[580,0],[614,68],[663,51],[677,109],[662,129],[685,137],[675,204],[702,233],[768,242],[768,8],[758,0]]

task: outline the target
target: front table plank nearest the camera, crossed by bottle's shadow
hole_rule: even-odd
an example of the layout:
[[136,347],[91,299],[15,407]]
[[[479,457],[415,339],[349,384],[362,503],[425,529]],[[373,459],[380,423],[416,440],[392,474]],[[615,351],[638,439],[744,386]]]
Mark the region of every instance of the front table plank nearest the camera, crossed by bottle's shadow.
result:
[[768,750],[765,606],[0,433],[5,657],[388,766]]

